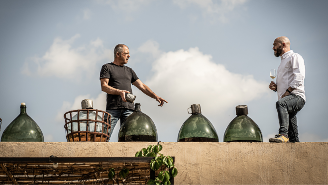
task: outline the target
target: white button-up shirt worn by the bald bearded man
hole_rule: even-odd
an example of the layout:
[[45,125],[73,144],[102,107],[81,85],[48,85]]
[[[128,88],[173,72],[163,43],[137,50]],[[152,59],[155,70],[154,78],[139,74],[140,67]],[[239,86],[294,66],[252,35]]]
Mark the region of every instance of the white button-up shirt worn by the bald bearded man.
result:
[[304,59],[293,50],[281,55],[281,62],[277,71],[278,100],[289,87],[295,88],[291,94],[301,96],[305,100],[304,91],[305,65]]

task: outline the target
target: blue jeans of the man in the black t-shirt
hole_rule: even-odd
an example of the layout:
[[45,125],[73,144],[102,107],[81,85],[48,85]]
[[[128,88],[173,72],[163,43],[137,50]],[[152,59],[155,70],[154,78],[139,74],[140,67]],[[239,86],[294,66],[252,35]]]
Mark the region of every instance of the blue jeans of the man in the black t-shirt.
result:
[[[133,113],[133,110],[129,109],[110,109],[106,110],[110,114],[110,122],[111,122],[111,128],[110,128],[110,134],[109,134],[109,140],[111,138],[111,134],[113,133],[113,130],[115,128],[115,125],[119,119],[120,126],[122,126],[122,123],[125,121],[125,119],[130,116],[130,114]],[[105,120],[107,120],[107,114],[105,115]]]

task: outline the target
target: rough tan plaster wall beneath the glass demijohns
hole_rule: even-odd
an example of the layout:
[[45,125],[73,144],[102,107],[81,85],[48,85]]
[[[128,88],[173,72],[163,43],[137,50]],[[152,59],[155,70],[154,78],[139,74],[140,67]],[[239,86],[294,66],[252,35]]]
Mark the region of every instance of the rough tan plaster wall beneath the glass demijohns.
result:
[[[156,143],[0,142],[0,157],[133,157]],[[176,184],[328,184],[328,143],[161,143]]]

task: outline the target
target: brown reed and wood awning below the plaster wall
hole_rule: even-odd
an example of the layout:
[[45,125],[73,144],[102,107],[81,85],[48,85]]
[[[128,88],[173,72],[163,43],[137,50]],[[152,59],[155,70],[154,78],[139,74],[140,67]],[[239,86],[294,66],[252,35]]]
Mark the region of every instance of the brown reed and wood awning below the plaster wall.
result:
[[[130,158],[0,158],[0,184],[146,184],[157,172],[150,170],[153,157]],[[58,163],[58,167],[55,168]],[[109,169],[117,177],[108,179]],[[129,169],[124,179],[118,178],[122,168]],[[173,178],[171,180],[173,184]]]

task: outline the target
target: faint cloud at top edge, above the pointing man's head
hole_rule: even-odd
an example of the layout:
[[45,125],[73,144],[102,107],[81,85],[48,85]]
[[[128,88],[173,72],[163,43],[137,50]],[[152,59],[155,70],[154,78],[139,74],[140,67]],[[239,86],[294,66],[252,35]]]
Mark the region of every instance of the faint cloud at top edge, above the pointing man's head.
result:
[[138,10],[140,7],[149,4],[151,0],[98,0],[98,2],[109,4],[112,9],[129,12]]

